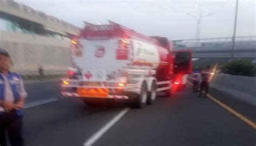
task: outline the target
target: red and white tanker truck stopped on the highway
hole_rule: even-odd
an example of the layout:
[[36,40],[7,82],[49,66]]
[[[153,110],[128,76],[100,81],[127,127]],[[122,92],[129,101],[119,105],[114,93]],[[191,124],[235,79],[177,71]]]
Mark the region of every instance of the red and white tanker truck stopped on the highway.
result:
[[148,37],[114,23],[85,22],[71,40],[68,76],[61,79],[64,97],[126,100],[139,108],[153,104],[157,92],[171,97],[176,86],[190,74],[191,51],[174,54],[164,37]]

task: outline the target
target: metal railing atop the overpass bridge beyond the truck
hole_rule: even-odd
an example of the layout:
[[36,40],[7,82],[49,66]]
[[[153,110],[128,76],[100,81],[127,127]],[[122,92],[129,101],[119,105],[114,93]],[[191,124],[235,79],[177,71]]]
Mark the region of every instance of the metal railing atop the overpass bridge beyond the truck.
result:
[[[232,37],[173,40],[173,47],[207,47],[232,46]],[[251,46],[256,44],[256,36],[235,37],[235,46]]]

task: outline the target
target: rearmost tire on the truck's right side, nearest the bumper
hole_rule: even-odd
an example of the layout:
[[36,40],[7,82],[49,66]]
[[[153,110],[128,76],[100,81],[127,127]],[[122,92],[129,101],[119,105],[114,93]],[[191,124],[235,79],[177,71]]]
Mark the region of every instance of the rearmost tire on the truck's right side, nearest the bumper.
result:
[[136,99],[136,105],[138,108],[143,108],[147,102],[147,83],[144,81]]

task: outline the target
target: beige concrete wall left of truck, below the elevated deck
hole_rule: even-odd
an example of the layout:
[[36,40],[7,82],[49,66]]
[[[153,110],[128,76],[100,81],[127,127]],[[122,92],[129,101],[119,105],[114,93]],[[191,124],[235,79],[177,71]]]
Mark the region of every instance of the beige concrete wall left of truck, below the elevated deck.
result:
[[38,72],[42,65],[45,74],[65,72],[71,65],[70,42],[40,35],[0,31],[0,47],[11,56],[13,71],[21,74]]

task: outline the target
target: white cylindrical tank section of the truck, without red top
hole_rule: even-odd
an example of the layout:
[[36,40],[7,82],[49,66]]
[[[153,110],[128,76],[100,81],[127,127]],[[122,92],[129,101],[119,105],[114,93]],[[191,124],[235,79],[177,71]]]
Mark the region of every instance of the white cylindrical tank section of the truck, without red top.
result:
[[[159,47],[153,42],[134,39],[84,39],[72,46],[71,61],[74,65],[90,74],[102,70],[104,73],[100,74],[106,74],[107,78],[120,77],[125,69],[156,70],[164,63],[161,58],[167,59],[168,54],[163,49],[159,54]],[[166,55],[161,55],[163,53]]]

